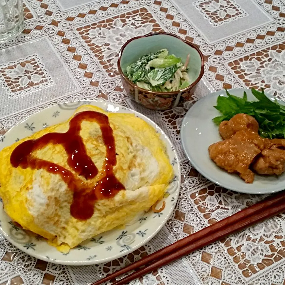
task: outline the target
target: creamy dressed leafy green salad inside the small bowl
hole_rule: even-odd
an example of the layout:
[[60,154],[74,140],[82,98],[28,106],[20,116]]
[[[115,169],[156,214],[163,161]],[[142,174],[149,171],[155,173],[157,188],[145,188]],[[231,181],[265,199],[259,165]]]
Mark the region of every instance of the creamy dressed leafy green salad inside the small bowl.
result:
[[126,76],[138,87],[156,92],[170,92],[190,85],[187,74],[190,55],[185,64],[182,59],[171,54],[167,49],[148,53],[130,64]]

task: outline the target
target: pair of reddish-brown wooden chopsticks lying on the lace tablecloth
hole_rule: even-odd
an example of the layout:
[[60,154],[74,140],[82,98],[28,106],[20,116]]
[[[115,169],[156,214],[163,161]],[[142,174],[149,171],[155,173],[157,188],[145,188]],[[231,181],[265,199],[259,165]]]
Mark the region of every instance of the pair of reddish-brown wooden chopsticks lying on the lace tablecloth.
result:
[[[216,240],[226,237],[227,235],[240,231],[245,227],[249,227],[264,219],[268,219],[278,213],[285,211],[285,192],[275,194],[269,199],[258,202],[246,209],[235,213],[232,216],[227,217],[221,221],[216,222],[186,238],[183,238],[165,248],[162,248],[153,254],[150,254],[137,262],[132,263],[99,281],[94,282],[91,285],[99,285],[110,279],[114,279],[124,273],[130,272],[139,267],[147,265],[145,268],[138,270],[135,273],[123,278],[113,285],[124,284],[133,280],[134,278],[140,277],[145,273],[155,270],[159,266],[163,266],[175,259],[178,259],[191,251],[197,250],[205,245],[213,243]],[[159,259],[159,261],[156,261]],[[156,261],[156,262],[155,262]],[[123,282],[123,283],[120,283]]]

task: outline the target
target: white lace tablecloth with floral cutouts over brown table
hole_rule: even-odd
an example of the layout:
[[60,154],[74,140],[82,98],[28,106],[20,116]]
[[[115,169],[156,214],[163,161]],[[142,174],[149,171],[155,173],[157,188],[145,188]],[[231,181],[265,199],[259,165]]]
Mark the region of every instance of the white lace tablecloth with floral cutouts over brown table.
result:
[[[46,263],[0,236],[1,285],[87,285],[264,199],[222,189],[200,175],[183,153],[180,126],[193,102],[221,88],[260,86],[284,98],[284,0],[25,0],[24,16],[23,33],[0,44],[0,140],[31,113],[61,102],[101,97],[148,115],[167,133],[180,158],[182,183],[175,211],[159,234],[107,264]],[[193,101],[164,112],[130,100],[116,65],[124,42],[155,31],[186,38],[205,56],[205,74]],[[30,65],[37,66],[37,72],[23,68]],[[131,284],[282,285],[284,220],[284,215],[276,216]]]

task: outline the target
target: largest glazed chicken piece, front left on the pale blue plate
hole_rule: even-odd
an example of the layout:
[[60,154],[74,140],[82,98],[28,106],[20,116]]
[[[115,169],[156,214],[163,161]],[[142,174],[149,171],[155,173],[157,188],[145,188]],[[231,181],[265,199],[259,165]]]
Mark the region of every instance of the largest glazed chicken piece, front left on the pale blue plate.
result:
[[257,137],[258,134],[251,130],[238,131],[231,138],[210,145],[208,149],[210,158],[229,173],[238,173],[246,183],[252,183],[254,173],[249,166],[261,153],[253,143]]

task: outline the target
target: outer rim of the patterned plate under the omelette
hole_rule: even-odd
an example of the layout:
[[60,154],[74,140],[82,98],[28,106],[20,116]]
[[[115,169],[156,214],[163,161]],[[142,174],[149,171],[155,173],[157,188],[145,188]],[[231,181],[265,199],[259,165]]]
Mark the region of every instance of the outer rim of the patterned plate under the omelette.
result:
[[[32,256],[32,257],[35,257],[37,259],[40,259],[40,260],[43,260],[43,261],[46,261],[46,262],[51,262],[53,264],[59,264],[59,265],[70,265],[70,266],[86,266],[86,265],[95,265],[95,264],[101,264],[101,263],[106,263],[106,262],[110,262],[112,260],[115,260],[115,259],[118,259],[120,257],[123,257],[123,256],[126,256],[130,253],[132,253],[133,251],[137,250],[138,248],[140,248],[141,246],[145,245],[146,243],[148,243],[151,239],[153,239],[157,234],[158,232],[164,227],[164,225],[166,224],[166,222],[168,221],[168,219],[170,218],[170,216],[172,215],[174,209],[175,209],[175,205],[178,201],[178,197],[179,197],[179,193],[180,193],[180,188],[181,188],[181,167],[180,167],[180,162],[179,162],[179,158],[178,158],[178,154],[174,148],[174,145],[173,143],[171,142],[170,138],[167,136],[167,134],[162,130],[162,128],[160,126],[158,126],[154,121],[152,121],[150,118],[148,118],[146,115],[136,111],[136,110],[133,110],[131,108],[128,108],[128,107],[125,107],[123,105],[120,105],[118,103],[113,103],[113,102],[110,102],[110,101],[107,101],[107,100],[104,100],[102,98],[100,99],[95,99],[95,100],[75,100],[75,101],[68,101],[68,102],[64,102],[64,103],[61,103],[61,104],[54,104],[50,107],[47,107],[47,108],[43,108],[42,110],[39,110],[29,116],[27,116],[26,118],[23,118],[22,120],[20,120],[17,124],[15,124],[14,126],[12,126],[11,129],[9,129],[6,133],[5,133],[5,136],[7,136],[7,134],[9,135],[9,132],[12,131],[13,128],[15,128],[16,126],[22,124],[23,122],[25,122],[27,119],[37,115],[38,113],[41,113],[43,110],[47,110],[47,109],[52,109],[56,106],[60,106],[60,105],[64,105],[64,104],[70,104],[70,103],[75,103],[75,102],[89,102],[88,104],[92,104],[92,103],[95,103],[96,102],[102,102],[102,103],[105,103],[105,104],[111,104],[115,107],[119,107],[119,108],[124,108],[124,110],[129,110],[131,111],[132,113],[134,113],[135,115],[139,114],[142,119],[146,122],[151,122],[153,124],[153,127],[155,126],[156,129],[158,129],[160,131],[160,133],[165,137],[165,139],[168,141],[169,145],[173,148],[173,152],[175,154],[175,157],[176,157],[176,160],[177,160],[177,168],[178,168],[178,183],[177,183],[177,187],[176,187],[176,190],[175,190],[175,199],[172,203],[172,206],[169,210],[169,212],[167,213],[167,215],[165,216],[165,218],[162,220],[162,222],[160,223],[160,225],[156,228],[156,230],[154,232],[151,233],[151,235],[147,238],[144,238],[140,243],[138,243],[136,246],[126,250],[126,251],[123,251],[122,253],[118,253],[116,254],[115,256],[113,257],[106,257],[104,259],[97,259],[97,260],[85,260],[85,261],[66,261],[66,260],[58,260],[58,259],[50,259],[50,258],[47,258],[45,256],[42,256],[40,254],[37,254],[37,251],[33,252],[33,251],[29,251],[28,249],[24,248],[23,246],[18,246],[18,244],[15,242],[15,240],[13,240],[9,234],[7,234],[3,229],[2,229],[2,226],[0,225],[0,232],[1,234],[4,236],[4,238],[6,238],[10,243],[12,243],[13,246],[15,246],[16,248],[18,248],[19,250],[25,252],[26,254]],[[87,105],[87,104],[86,104]],[[79,106],[78,106],[79,107]],[[76,109],[75,109],[76,110]],[[75,110],[73,110],[75,112]],[[73,113],[74,113],[73,112]],[[111,111],[112,113],[112,111]],[[2,150],[2,148],[0,148],[0,151]],[[4,210],[3,210],[4,211]],[[7,215],[7,213],[4,211],[4,213]],[[7,215],[8,216],[8,215]],[[9,217],[9,216],[8,216]],[[11,219],[9,217],[9,219]]]

